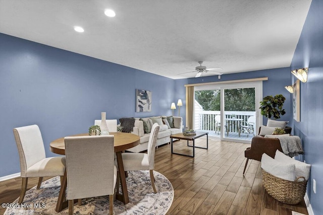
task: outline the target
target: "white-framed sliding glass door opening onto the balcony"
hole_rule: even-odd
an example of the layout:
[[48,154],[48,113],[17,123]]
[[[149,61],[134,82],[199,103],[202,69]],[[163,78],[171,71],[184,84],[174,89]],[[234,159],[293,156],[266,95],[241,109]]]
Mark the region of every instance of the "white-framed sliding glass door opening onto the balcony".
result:
[[251,141],[262,123],[262,82],[198,86],[194,90],[195,130],[223,140]]

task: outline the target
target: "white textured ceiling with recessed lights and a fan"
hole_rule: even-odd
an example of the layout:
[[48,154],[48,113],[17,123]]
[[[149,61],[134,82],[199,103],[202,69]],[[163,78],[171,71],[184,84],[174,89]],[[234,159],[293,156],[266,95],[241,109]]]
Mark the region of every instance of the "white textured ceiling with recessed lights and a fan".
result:
[[[290,66],[310,3],[0,0],[0,32],[172,79],[193,78],[195,72],[178,74],[199,60],[224,74]],[[106,17],[106,8],[116,17]]]

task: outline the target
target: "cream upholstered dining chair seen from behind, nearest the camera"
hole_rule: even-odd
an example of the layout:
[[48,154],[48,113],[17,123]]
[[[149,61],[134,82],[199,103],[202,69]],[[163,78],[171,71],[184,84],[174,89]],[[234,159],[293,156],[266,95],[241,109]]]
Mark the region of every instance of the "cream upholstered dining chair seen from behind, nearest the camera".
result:
[[73,214],[74,199],[103,195],[109,195],[110,214],[113,214],[117,181],[114,136],[65,137],[65,156],[69,214]]

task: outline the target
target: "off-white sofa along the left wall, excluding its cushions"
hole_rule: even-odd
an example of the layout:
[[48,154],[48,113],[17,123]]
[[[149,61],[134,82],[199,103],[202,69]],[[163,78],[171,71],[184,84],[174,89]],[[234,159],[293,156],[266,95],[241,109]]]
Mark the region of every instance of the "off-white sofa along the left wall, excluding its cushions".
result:
[[[161,118],[161,116],[153,116],[153,118],[155,117]],[[148,118],[152,118],[152,117],[146,117],[141,119],[147,121]],[[138,152],[147,150],[150,133],[144,133],[143,121],[139,120],[140,118],[135,118],[135,119],[136,119],[135,125],[131,133],[134,133],[140,136],[140,144],[136,147],[128,149],[127,151],[138,153]],[[171,138],[170,138],[171,134],[182,133],[182,126],[183,126],[182,117],[173,116],[173,121],[174,121],[174,128],[169,128],[168,125],[166,124],[162,124],[162,125],[159,124],[159,132],[157,136],[156,146],[168,144],[171,141]]]

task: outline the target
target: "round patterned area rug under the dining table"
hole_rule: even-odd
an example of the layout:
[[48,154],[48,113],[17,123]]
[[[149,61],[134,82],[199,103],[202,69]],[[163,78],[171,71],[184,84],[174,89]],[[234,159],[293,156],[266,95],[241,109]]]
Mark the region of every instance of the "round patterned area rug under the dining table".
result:
[[[114,214],[166,214],[174,199],[174,188],[164,175],[153,173],[157,193],[151,187],[149,171],[128,172],[129,203],[115,200]],[[68,214],[68,208],[55,211],[60,184],[60,177],[44,181],[39,190],[35,186],[26,192],[23,204],[7,208],[4,214]],[[81,206],[74,204],[74,214],[109,214],[109,196],[82,199]]]

